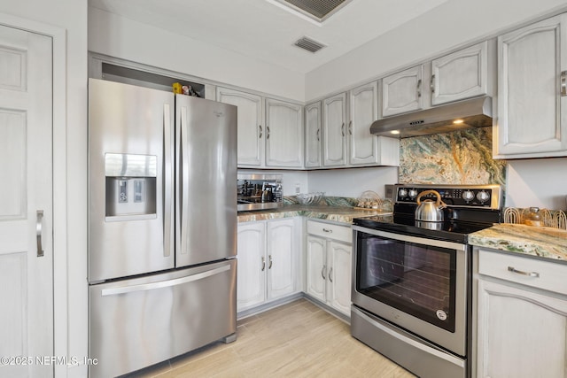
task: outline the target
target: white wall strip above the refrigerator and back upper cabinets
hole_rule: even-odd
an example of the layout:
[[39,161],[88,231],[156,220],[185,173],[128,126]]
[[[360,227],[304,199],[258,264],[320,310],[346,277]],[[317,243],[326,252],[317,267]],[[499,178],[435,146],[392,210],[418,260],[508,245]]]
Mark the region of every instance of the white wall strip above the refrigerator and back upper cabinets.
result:
[[303,73],[95,8],[89,8],[89,50],[291,100],[305,100]]

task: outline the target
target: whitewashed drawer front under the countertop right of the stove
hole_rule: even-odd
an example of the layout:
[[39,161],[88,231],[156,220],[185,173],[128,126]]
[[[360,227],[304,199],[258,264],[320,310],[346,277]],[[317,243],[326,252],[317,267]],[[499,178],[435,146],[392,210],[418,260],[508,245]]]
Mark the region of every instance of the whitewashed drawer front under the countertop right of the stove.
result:
[[478,250],[478,273],[567,295],[567,266],[563,264]]

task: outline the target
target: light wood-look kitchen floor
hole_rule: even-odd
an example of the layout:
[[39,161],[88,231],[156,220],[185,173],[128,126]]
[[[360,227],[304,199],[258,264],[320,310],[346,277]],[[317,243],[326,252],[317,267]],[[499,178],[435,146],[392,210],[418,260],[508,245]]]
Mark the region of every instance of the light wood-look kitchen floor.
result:
[[131,376],[414,377],[303,298],[239,320],[237,336],[234,343],[214,343]]

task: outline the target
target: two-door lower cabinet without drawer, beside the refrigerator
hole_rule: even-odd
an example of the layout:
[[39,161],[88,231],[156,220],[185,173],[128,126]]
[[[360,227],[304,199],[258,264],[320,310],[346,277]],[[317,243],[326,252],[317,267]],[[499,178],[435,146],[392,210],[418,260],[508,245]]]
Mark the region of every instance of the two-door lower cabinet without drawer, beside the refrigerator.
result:
[[238,224],[237,312],[300,291],[298,221]]

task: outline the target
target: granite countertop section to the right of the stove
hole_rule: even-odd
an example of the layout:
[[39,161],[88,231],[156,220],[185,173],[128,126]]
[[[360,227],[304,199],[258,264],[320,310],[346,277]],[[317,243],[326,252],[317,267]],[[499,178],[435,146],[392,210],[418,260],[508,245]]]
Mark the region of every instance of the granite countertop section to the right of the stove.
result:
[[501,223],[469,235],[469,243],[567,262],[567,231]]

